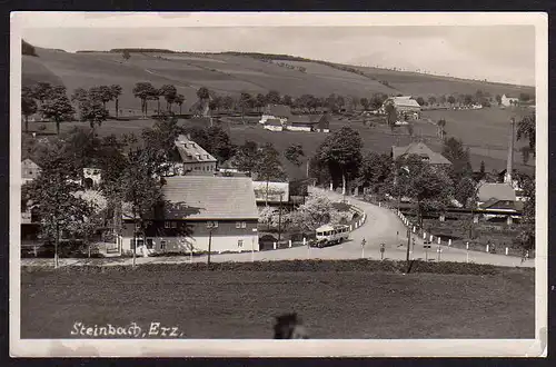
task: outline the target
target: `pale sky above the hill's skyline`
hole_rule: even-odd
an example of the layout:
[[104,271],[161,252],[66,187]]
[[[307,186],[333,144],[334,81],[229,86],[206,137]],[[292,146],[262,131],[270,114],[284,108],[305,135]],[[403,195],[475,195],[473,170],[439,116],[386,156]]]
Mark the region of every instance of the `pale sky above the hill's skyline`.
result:
[[535,85],[534,26],[160,28],[148,23],[139,27],[139,23],[132,28],[113,27],[110,22],[95,28],[44,28],[39,23],[24,27],[22,37],[38,47],[70,52],[143,47],[191,52],[286,53],[356,66]]

